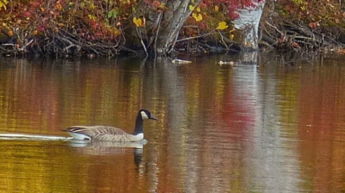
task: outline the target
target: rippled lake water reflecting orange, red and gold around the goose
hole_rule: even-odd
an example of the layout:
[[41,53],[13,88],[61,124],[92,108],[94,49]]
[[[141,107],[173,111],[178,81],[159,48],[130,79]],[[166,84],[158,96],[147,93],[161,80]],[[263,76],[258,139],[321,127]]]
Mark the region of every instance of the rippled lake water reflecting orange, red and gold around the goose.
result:
[[345,57],[239,57],[0,58],[0,133],[159,119],[143,148],[0,139],[0,192],[345,191]]

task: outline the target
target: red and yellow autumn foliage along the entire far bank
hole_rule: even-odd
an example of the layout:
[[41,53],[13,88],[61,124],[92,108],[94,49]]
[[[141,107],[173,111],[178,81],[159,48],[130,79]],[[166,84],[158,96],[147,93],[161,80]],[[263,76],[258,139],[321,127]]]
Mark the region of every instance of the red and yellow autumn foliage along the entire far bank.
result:
[[[188,43],[214,42],[228,48],[237,40],[236,10],[254,8],[264,0],[203,0],[189,2],[192,12],[177,39]],[[150,47],[159,35],[157,16],[174,14],[175,1],[157,0],[0,0],[0,51],[40,55],[117,55]],[[290,21],[322,31],[345,26],[341,1],[281,0],[276,12]],[[163,26],[163,24],[162,24]],[[337,28],[338,29],[338,28]],[[339,31],[339,30],[338,30]],[[341,31],[341,30],[340,30]],[[328,29],[327,32],[330,32]],[[133,46],[134,45],[134,46]]]

